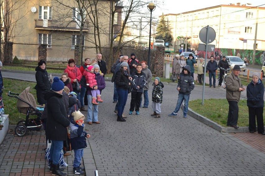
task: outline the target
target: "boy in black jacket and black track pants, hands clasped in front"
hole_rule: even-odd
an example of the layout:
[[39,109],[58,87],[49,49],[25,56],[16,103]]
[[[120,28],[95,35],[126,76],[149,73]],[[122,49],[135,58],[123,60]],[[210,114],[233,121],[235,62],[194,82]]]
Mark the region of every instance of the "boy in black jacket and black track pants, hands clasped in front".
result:
[[136,71],[132,74],[132,99],[129,115],[133,115],[134,107],[136,115],[139,115],[140,101],[143,94],[143,88],[146,85],[145,74],[142,72],[142,64],[136,65]]

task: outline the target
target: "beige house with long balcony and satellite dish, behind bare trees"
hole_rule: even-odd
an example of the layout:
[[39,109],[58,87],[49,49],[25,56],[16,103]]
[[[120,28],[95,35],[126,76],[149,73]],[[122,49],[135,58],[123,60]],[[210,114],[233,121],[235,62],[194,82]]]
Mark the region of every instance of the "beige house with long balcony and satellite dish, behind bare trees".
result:
[[[1,0],[5,1],[5,0]],[[7,2],[7,1],[6,1]],[[12,0],[8,0],[12,2]],[[12,12],[12,22],[16,21],[12,30],[10,41],[13,45],[13,56],[19,59],[38,59],[38,47],[40,44],[47,44],[48,61],[67,61],[74,57],[75,45],[79,43],[81,19],[84,18],[83,26],[83,57],[95,57],[95,41],[100,38],[101,47],[109,47],[111,33],[111,6],[115,1],[98,0],[97,6],[93,1],[85,2],[86,11],[81,14],[77,1],[73,0],[21,0],[13,1],[17,4]],[[97,1],[95,1],[97,2]],[[18,8],[18,6],[20,6]],[[98,26],[100,35],[94,35],[97,29],[94,28],[92,13],[98,14]],[[114,7],[115,8],[115,7]],[[121,11],[118,7],[114,15],[114,34],[120,32]],[[2,11],[2,10],[1,10]],[[90,14],[90,16],[89,16]],[[14,20],[15,19],[15,20]],[[3,24],[4,25],[4,24]],[[22,45],[36,44],[36,45]]]

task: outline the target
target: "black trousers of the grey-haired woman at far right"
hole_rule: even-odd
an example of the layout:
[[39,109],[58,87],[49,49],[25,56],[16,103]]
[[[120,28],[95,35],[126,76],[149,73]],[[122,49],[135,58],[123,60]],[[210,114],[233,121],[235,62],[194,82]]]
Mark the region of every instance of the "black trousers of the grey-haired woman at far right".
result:
[[264,132],[263,107],[260,108],[249,107],[249,131],[256,131],[256,117],[257,117],[258,133],[263,133]]

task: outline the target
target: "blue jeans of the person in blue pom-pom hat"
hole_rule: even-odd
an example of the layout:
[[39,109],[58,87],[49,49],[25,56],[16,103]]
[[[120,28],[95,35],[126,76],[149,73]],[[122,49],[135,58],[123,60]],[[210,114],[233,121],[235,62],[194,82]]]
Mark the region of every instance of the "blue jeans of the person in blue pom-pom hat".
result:
[[52,141],[51,149],[50,149],[50,159],[53,161],[54,165],[58,165],[60,161],[60,153],[63,148],[63,141]]

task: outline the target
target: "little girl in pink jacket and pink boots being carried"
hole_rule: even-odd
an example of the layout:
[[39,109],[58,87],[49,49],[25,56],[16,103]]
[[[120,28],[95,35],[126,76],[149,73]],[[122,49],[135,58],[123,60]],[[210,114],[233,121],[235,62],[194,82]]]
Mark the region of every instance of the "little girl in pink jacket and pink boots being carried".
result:
[[[94,67],[99,68],[98,65],[94,65]],[[98,105],[98,102],[103,102],[100,95],[100,90],[97,89],[97,80],[95,80],[95,73],[94,73],[94,67],[92,65],[87,65],[87,68],[85,69],[83,76],[86,77],[86,85],[89,86],[92,94],[92,104]]]

